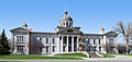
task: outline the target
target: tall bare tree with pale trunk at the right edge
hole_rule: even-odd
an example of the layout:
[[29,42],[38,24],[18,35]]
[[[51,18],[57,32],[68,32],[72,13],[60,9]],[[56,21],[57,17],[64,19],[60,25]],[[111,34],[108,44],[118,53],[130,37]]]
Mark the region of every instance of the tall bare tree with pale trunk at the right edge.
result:
[[117,27],[114,28],[116,32],[123,35],[123,38],[125,40],[125,48],[127,48],[127,54],[129,52],[129,39],[132,35],[132,24],[129,23],[128,26],[124,26],[122,22],[119,22],[117,24]]

